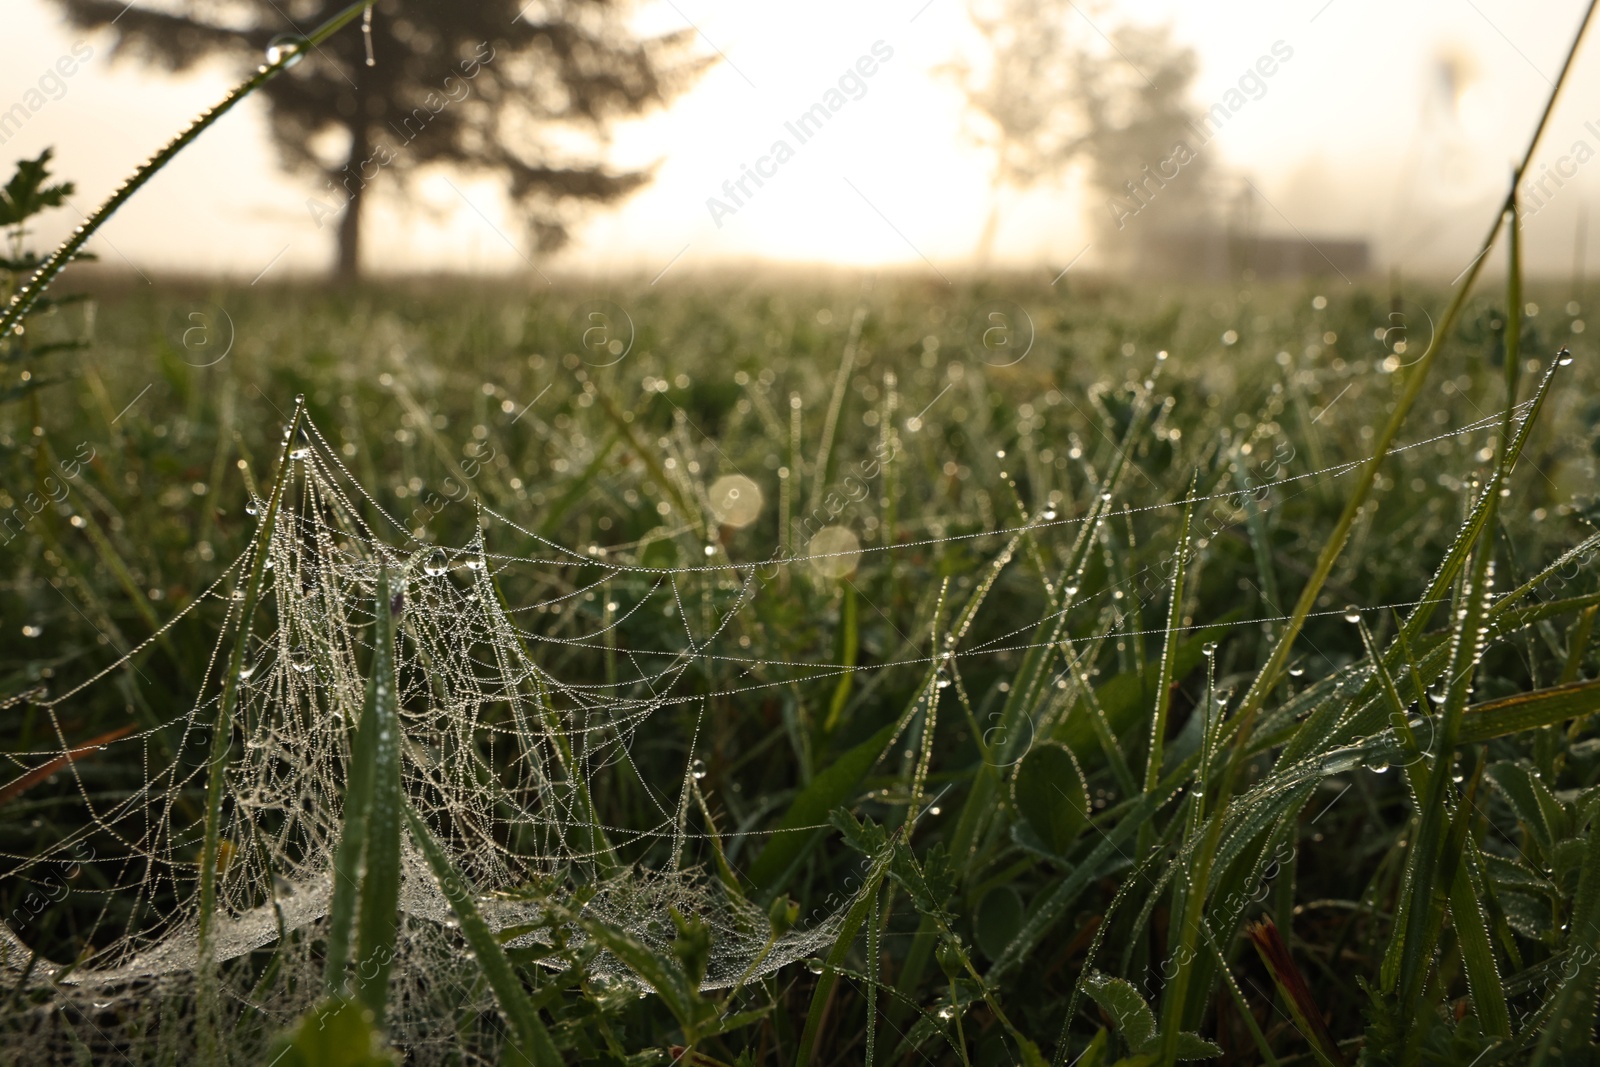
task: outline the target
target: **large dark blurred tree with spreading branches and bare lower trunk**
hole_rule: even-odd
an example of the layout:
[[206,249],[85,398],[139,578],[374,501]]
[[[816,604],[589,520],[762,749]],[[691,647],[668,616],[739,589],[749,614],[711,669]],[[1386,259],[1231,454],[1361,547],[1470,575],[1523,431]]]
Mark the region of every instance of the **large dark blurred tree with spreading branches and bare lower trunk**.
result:
[[[112,54],[178,72],[210,56],[254,67],[347,0],[56,0]],[[683,91],[706,67],[690,30],[638,37],[629,0],[378,0],[363,34],[339,34],[269,82],[283,166],[318,178],[307,211],[334,224],[336,270],[360,269],[362,216],[386,174],[405,192],[429,166],[506,182],[538,251],[555,251],[582,205],[650,179],[603,158],[613,122]]]

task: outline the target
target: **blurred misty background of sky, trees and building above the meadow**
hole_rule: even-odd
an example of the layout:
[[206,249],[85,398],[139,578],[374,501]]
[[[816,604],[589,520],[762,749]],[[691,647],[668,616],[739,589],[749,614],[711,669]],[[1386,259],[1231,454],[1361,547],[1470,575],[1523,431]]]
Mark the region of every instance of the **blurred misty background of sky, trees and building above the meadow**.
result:
[[[0,157],[54,146],[90,211],[262,45],[334,6],[6,0]],[[346,30],[91,248],[107,267],[245,282],[338,267],[648,278],[752,261],[1448,280],[1581,10],[536,0],[517,14],[381,0],[371,67]],[[466,78],[480,40],[494,58]],[[1579,61],[1525,197],[1536,274],[1565,278],[1587,256],[1597,101],[1600,62]],[[358,227],[336,189],[352,162],[371,176],[355,182]],[[747,168],[766,171],[760,186]],[[54,213],[40,242],[77,221]]]

